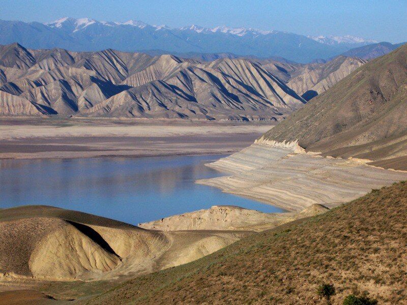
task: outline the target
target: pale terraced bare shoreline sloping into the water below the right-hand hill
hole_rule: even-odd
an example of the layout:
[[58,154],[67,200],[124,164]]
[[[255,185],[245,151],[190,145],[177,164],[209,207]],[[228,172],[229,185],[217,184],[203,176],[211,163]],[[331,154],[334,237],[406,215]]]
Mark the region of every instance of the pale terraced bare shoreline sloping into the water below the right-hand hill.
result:
[[297,141],[275,142],[261,137],[238,153],[207,164],[231,175],[197,183],[300,211],[312,204],[332,208],[407,179],[407,172],[367,165],[370,160],[316,154],[306,153]]

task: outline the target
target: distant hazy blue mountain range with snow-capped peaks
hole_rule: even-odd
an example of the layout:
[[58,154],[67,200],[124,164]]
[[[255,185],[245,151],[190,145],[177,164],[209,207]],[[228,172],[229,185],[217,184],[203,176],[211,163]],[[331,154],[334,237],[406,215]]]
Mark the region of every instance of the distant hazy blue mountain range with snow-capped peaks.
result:
[[213,28],[196,25],[171,28],[141,21],[105,22],[90,18],[61,18],[49,23],[0,20],[0,44],[72,51],[164,50],[165,53],[234,53],[279,56],[299,63],[328,59],[352,48],[376,43],[353,36],[303,36],[253,28]]

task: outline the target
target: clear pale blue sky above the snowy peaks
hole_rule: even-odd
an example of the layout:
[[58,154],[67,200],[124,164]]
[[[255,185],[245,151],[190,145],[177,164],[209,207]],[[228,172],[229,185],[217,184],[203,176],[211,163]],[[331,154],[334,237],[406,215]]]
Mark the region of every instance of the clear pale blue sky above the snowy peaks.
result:
[[200,25],[275,29],[302,35],[353,35],[407,41],[407,0],[0,0],[0,19],[49,22],[61,17],[140,20],[171,27]]

